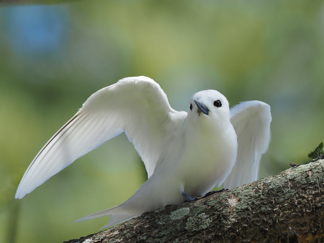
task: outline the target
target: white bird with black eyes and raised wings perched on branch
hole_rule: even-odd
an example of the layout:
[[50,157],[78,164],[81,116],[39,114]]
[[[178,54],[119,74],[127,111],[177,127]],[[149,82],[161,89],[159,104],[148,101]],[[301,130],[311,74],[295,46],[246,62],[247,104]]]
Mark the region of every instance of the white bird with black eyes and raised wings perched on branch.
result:
[[167,204],[191,201],[215,185],[234,188],[257,180],[270,142],[270,122],[270,106],[261,101],[229,109],[224,95],[203,90],[190,98],[187,113],[173,110],[152,79],[124,78],[91,95],[44,145],[21,179],[16,198],[125,132],[148,179],[124,203],[79,219],[111,215],[103,229]]

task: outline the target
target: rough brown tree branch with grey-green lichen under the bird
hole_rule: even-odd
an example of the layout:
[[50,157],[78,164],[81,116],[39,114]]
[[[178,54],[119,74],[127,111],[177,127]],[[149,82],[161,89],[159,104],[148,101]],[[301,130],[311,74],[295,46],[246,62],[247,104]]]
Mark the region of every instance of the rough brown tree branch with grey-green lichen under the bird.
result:
[[323,158],[68,242],[324,242]]

